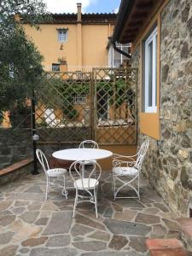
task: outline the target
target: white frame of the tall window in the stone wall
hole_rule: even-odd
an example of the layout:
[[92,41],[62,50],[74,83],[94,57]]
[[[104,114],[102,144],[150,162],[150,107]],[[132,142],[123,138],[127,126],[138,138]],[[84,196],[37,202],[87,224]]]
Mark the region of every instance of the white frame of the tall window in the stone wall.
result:
[[[152,43],[153,56],[152,56],[152,106],[148,106],[149,95],[149,44]],[[145,66],[144,66],[144,91],[145,91],[145,104],[144,111],[146,113],[157,112],[157,27],[149,35],[144,43],[145,48]]]

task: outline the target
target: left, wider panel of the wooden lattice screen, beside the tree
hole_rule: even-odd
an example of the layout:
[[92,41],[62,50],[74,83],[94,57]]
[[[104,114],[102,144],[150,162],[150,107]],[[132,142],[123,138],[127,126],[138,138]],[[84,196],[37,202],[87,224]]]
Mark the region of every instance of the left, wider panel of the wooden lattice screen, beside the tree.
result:
[[[91,73],[45,73],[36,92],[40,142],[79,143],[91,138]],[[76,102],[77,98],[84,102]]]

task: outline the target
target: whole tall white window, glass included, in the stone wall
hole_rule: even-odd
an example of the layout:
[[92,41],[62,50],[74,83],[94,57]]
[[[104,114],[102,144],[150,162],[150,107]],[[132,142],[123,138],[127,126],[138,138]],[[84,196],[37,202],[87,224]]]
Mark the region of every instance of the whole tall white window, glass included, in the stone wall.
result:
[[157,112],[157,28],[144,42],[144,111]]

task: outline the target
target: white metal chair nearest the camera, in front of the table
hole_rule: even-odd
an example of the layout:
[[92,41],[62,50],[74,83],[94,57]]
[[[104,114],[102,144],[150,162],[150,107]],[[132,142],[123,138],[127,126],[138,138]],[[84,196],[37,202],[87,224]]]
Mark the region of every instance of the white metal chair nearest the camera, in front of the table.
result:
[[[69,168],[70,176],[73,179],[73,185],[76,189],[74,207],[73,207],[73,218],[75,216],[75,209],[80,202],[89,201],[95,204],[96,207],[96,218],[97,213],[97,189],[99,185],[99,178],[102,174],[101,166],[95,161],[90,161],[90,172],[87,177],[82,176],[81,168],[84,166],[84,161],[75,161]],[[74,171],[73,171],[74,170]],[[85,193],[85,195],[84,195]]]

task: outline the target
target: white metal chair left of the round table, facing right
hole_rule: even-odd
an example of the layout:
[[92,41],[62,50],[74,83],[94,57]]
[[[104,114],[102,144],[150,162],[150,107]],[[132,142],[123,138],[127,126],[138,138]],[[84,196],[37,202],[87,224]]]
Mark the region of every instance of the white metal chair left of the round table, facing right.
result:
[[[68,192],[67,192],[67,189],[66,189],[66,177],[65,177],[65,175],[67,173],[67,170],[63,169],[63,168],[50,169],[49,168],[49,164],[48,164],[48,160],[46,159],[44,153],[40,149],[37,149],[36,150],[36,154],[37,154],[39,163],[43,167],[44,173],[45,173],[45,175],[47,177],[47,186],[46,186],[45,200],[47,200],[47,195],[48,195],[50,186],[52,186],[52,187],[61,187],[62,188],[62,192],[61,192],[62,195],[65,195],[65,197],[67,199]],[[63,177],[63,186],[61,186],[59,184],[55,184],[55,183],[50,183],[49,179],[51,177],[53,177],[53,178],[54,177]]]

